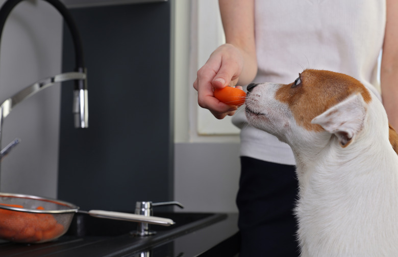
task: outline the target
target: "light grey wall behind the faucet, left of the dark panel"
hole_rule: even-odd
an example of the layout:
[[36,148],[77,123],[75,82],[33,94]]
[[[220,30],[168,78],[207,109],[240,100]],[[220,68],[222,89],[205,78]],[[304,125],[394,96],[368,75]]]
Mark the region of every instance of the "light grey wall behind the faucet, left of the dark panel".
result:
[[[0,1],[3,5],[5,1]],[[0,50],[0,101],[61,71],[62,18],[44,1],[11,12]],[[55,85],[16,106],[4,121],[3,147],[20,144],[1,163],[0,191],[56,197],[60,88]]]

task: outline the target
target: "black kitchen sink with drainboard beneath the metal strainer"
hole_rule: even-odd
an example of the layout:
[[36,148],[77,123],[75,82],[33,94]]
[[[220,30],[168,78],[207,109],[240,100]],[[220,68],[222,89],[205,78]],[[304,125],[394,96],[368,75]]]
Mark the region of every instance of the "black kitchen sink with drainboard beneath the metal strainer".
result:
[[[131,254],[169,243],[173,245],[180,238],[184,239],[200,233],[199,231],[206,231],[217,224],[223,224],[221,221],[231,219],[231,215],[225,213],[157,212],[156,216],[170,218],[176,224],[171,226],[151,224],[151,230],[157,233],[139,237],[133,234],[136,231],[136,222],[96,218],[77,213],[67,233],[59,239],[41,244],[3,241],[0,242],[0,252],[2,257],[135,256]],[[197,242],[194,243],[196,244]]]

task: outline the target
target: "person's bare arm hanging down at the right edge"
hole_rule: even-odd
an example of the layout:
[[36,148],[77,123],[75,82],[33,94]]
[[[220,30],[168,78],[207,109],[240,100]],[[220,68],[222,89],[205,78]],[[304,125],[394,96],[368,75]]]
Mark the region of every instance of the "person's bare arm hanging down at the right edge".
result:
[[387,0],[387,20],[380,69],[382,99],[388,121],[398,129],[398,2]]

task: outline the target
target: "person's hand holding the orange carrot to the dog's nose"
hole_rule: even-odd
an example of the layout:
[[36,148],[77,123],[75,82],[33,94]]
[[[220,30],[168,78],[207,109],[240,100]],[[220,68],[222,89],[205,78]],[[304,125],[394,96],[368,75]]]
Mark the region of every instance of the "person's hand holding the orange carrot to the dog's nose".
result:
[[[209,109],[217,119],[227,115],[234,115],[237,106],[220,102],[214,97],[214,88],[233,87],[238,82],[243,68],[241,51],[231,45],[219,46],[211,55],[206,64],[197,71],[197,78],[193,88],[197,91],[197,103],[202,108]],[[242,89],[238,86],[238,88]]]

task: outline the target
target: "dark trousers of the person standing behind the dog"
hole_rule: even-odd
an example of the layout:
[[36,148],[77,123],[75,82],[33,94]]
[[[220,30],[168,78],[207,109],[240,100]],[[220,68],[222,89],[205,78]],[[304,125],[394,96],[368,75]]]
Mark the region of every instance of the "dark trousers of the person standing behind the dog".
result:
[[240,257],[299,256],[293,215],[297,192],[294,166],[241,157]]

